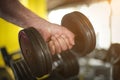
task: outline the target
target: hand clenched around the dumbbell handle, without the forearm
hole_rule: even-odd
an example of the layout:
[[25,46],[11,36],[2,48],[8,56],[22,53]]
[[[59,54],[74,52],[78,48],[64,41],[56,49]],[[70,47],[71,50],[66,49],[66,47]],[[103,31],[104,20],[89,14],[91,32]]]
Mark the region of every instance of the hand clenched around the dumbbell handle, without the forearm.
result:
[[50,23],[42,28],[37,27],[37,30],[48,43],[52,54],[71,49],[75,44],[74,34],[63,26]]

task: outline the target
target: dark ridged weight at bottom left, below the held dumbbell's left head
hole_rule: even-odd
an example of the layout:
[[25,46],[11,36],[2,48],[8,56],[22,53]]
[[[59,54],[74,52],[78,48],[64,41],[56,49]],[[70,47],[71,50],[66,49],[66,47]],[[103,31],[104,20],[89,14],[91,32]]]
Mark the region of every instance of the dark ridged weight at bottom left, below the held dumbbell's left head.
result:
[[24,60],[11,61],[15,80],[36,80]]

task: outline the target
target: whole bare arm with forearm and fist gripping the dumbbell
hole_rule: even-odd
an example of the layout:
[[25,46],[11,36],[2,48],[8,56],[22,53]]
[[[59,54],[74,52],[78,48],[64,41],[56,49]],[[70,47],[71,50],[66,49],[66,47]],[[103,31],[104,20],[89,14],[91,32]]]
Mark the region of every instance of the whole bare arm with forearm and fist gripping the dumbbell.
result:
[[22,28],[34,27],[48,43],[52,54],[71,49],[74,34],[65,27],[50,23],[24,7],[18,0],[1,0],[0,17]]

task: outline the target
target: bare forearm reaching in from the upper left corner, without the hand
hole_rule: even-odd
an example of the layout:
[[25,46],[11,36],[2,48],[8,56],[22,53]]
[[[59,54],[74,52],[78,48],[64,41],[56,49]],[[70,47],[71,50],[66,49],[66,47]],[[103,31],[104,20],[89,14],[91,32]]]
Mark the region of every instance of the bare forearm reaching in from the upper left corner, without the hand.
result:
[[47,21],[21,5],[18,0],[1,0],[0,17],[23,28],[47,23]]

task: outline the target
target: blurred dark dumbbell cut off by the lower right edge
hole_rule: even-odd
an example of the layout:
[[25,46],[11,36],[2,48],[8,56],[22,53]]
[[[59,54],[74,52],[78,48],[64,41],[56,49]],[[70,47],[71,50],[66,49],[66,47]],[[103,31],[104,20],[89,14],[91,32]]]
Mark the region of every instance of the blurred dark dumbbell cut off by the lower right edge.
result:
[[119,80],[120,78],[120,44],[111,44],[108,49],[106,59],[112,64],[112,78]]

